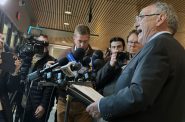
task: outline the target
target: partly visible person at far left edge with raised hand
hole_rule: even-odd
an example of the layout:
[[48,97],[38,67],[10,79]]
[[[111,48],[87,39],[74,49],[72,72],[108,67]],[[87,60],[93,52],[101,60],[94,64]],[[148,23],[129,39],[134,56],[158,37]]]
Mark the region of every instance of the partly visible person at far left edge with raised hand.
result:
[[[3,52],[3,35],[0,34],[0,56]],[[11,112],[10,100],[8,93],[14,92],[19,85],[19,68],[21,66],[20,60],[15,59],[15,72],[10,74],[0,69],[0,122],[13,122],[13,114]],[[0,58],[0,65],[3,60]]]

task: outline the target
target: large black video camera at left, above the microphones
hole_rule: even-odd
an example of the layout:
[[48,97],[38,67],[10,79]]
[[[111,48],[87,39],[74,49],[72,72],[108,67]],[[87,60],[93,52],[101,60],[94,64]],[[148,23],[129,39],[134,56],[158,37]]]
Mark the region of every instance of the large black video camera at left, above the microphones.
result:
[[26,39],[26,43],[20,48],[20,57],[32,57],[34,54],[43,54],[44,47],[48,45],[49,43],[46,41],[39,41],[34,37],[30,37]]

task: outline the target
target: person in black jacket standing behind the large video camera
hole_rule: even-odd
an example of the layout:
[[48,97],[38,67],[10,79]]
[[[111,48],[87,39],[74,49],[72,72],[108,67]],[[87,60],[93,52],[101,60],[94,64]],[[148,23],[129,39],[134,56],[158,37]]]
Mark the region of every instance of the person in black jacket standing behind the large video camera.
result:
[[[45,41],[49,44],[46,35],[40,35],[37,41]],[[48,45],[44,45],[44,52],[35,54],[32,59],[31,72],[42,69],[47,61],[54,60],[49,55]],[[30,72],[30,73],[31,73]],[[39,86],[38,79],[32,82],[28,95],[23,122],[46,122],[54,104],[54,87]]]

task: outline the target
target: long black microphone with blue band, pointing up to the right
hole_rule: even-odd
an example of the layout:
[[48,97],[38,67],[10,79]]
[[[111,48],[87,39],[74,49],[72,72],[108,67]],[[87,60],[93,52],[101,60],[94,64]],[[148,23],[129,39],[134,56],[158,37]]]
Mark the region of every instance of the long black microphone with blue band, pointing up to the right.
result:
[[28,75],[29,80],[37,79],[39,76],[41,76],[45,72],[49,72],[52,69],[58,67],[58,66],[65,66],[68,64],[69,61],[79,61],[83,58],[85,55],[85,50],[82,48],[77,48],[76,51],[72,54],[71,52],[67,54],[67,57],[61,58],[57,63],[51,65],[50,67],[46,67],[42,70],[35,71],[33,73],[30,73]]

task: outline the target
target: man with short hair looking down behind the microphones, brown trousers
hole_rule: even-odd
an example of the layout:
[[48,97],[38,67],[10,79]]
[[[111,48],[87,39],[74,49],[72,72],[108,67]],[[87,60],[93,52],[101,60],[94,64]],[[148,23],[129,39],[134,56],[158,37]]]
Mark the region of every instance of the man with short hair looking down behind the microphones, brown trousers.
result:
[[[65,57],[69,52],[74,52],[77,48],[83,48],[85,50],[85,56],[92,56],[93,49],[89,45],[90,29],[88,26],[79,24],[75,28],[74,32],[74,46],[67,49],[61,54],[61,57]],[[58,89],[59,97],[57,103],[57,122],[64,122],[65,107],[66,107],[66,92],[65,89]],[[70,104],[70,111],[68,115],[69,122],[91,122],[92,118],[85,111],[85,105],[80,101],[72,100]]]

